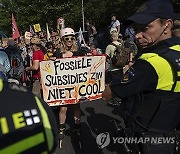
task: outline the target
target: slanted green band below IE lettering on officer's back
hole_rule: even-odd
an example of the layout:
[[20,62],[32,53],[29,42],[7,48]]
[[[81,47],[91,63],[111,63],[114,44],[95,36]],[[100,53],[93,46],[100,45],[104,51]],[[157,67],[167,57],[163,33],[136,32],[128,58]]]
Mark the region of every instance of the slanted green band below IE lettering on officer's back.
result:
[[38,144],[43,143],[44,140],[44,134],[41,132],[1,149],[0,154],[22,153],[37,146]]

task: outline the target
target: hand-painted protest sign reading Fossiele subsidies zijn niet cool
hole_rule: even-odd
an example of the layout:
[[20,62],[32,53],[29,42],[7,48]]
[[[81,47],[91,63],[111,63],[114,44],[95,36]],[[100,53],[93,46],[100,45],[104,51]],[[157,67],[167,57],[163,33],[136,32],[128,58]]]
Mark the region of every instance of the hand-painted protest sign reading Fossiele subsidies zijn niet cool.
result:
[[56,106],[100,99],[105,88],[105,60],[101,55],[40,62],[44,101]]

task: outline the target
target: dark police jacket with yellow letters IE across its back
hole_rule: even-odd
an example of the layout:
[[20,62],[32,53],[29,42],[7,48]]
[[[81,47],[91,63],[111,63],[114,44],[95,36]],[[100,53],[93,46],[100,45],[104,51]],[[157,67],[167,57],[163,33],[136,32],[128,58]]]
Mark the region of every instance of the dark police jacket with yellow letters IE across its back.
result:
[[27,89],[0,79],[0,154],[52,153],[58,135],[53,112]]

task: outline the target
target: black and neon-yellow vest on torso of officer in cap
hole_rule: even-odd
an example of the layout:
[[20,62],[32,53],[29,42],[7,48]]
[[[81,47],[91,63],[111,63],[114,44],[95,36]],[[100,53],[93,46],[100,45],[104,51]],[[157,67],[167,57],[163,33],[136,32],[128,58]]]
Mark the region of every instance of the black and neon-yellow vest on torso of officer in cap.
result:
[[148,51],[140,59],[151,64],[158,81],[156,90],[144,93],[136,122],[148,131],[169,132],[180,122],[180,45]]

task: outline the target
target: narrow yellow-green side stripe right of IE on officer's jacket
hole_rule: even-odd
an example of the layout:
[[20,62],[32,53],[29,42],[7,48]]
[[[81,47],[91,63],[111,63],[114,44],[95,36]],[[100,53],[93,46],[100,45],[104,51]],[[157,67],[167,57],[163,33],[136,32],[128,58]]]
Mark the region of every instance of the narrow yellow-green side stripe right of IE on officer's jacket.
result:
[[39,107],[39,110],[41,112],[41,116],[42,116],[42,122],[43,122],[43,126],[44,126],[44,129],[45,129],[45,134],[46,134],[46,138],[48,139],[47,142],[48,142],[48,148],[49,150],[52,149],[53,147],[53,133],[52,133],[52,129],[51,129],[51,125],[50,125],[50,122],[49,122],[49,118],[48,118],[48,115],[47,115],[47,112],[45,111],[44,107],[42,106],[40,100],[38,99],[38,97],[35,97],[36,99],[36,103]]

